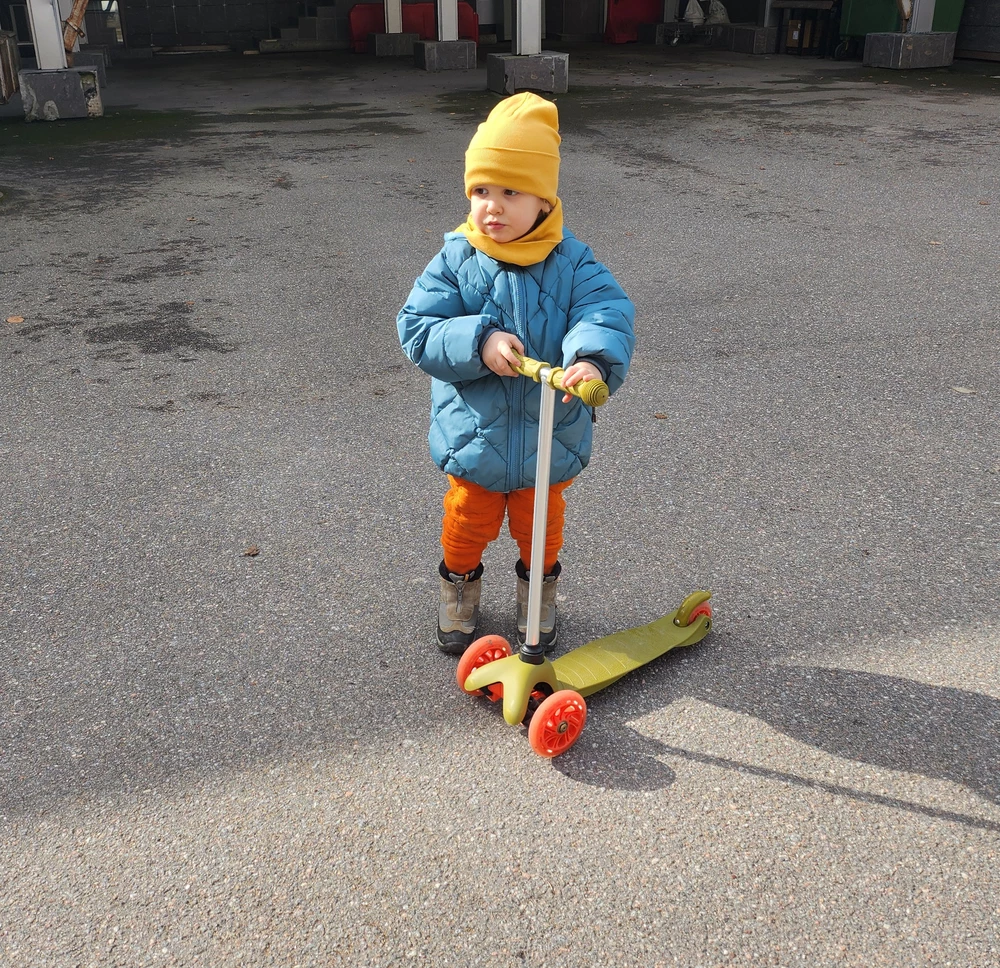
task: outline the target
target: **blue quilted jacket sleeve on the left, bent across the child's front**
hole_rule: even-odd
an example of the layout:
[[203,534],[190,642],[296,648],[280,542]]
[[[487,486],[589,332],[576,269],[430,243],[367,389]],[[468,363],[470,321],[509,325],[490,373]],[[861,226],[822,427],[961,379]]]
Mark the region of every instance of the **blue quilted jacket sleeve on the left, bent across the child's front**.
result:
[[446,383],[486,376],[479,355],[483,334],[496,323],[466,312],[458,277],[442,249],[413,285],[396,317],[403,352],[425,373]]

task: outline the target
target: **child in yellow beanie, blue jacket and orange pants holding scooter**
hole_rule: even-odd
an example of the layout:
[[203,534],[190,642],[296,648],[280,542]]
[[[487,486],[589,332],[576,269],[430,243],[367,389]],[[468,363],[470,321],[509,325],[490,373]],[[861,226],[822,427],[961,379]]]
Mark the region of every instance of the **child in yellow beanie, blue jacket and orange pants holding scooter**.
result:
[[[536,94],[501,101],[465,153],[468,220],[417,279],[397,317],[406,355],[432,377],[431,456],[444,498],[438,646],[475,638],[482,555],[508,518],[521,553],[517,625],[527,628],[528,565],[541,387],[512,369],[515,353],[566,368],[564,385],[621,386],[635,309],[590,248],[563,228],[556,107]],[[556,641],[563,492],[590,460],[592,413],[562,397],[552,441],[540,637]]]

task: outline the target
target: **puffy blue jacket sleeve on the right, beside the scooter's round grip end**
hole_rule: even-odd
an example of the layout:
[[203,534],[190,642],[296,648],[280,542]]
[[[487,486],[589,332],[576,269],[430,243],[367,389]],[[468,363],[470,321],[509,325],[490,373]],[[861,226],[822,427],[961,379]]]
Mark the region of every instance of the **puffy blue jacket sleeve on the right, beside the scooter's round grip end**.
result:
[[569,323],[562,344],[563,366],[579,359],[596,362],[614,393],[625,379],[635,349],[635,306],[587,246],[573,274]]

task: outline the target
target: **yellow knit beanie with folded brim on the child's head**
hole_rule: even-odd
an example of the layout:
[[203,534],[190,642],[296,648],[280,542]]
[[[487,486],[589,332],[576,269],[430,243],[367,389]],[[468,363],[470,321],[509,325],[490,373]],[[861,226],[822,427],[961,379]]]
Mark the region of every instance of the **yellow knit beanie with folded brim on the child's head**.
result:
[[525,92],[504,98],[479,126],[465,152],[465,194],[499,185],[553,205],[559,195],[559,113]]

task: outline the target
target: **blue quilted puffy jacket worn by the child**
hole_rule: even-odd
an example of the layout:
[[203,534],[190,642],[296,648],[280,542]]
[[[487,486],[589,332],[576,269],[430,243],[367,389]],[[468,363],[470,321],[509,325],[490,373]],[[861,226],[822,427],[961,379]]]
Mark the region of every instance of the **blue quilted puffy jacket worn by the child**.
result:
[[[541,387],[500,377],[479,355],[493,330],[515,334],[525,352],[553,366],[579,359],[621,386],[635,346],[635,307],[590,247],[564,230],[544,262],[497,262],[449,232],[396,319],[406,355],[432,377],[431,456],[446,473],[504,493],[535,483]],[[553,484],[587,466],[591,412],[556,397]]]

